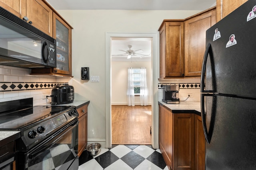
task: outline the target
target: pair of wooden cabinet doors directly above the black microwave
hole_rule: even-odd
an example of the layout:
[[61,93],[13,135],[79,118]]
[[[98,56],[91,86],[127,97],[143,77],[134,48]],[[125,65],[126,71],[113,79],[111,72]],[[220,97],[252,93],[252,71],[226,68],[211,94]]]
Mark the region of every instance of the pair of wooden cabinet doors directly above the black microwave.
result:
[[0,0],[0,6],[52,37],[52,10],[42,0]]

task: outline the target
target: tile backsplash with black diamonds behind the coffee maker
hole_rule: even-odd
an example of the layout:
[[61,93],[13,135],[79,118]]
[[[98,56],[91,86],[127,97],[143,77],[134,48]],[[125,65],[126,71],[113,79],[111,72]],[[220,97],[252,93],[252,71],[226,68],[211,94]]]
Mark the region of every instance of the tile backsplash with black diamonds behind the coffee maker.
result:
[[[158,101],[162,101],[163,98],[163,86],[166,84],[178,84],[180,87],[179,98],[180,101],[200,101],[200,78],[192,79],[171,79],[171,80],[160,80],[158,82]],[[188,94],[192,94],[188,98]]]

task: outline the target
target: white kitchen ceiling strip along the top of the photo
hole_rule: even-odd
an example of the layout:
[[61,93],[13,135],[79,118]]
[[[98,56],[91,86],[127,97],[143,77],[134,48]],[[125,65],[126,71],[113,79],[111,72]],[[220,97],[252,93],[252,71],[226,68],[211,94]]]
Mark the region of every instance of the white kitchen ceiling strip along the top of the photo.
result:
[[56,10],[206,10],[216,0],[46,0]]

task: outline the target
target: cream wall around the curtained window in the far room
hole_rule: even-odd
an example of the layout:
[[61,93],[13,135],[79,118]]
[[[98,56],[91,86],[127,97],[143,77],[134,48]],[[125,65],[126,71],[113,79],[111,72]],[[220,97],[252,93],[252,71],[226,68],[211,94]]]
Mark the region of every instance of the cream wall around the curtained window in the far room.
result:
[[[151,105],[151,61],[121,62],[112,61],[112,105],[127,105],[128,67],[146,67],[148,105]],[[140,96],[134,97],[135,105],[140,105]]]

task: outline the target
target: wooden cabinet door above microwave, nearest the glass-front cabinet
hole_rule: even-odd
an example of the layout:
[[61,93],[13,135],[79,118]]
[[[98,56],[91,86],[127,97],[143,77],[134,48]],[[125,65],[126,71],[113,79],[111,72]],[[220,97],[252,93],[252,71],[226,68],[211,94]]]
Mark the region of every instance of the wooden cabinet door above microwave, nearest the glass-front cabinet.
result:
[[52,37],[52,10],[42,0],[26,0],[26,16],[34,27]]

